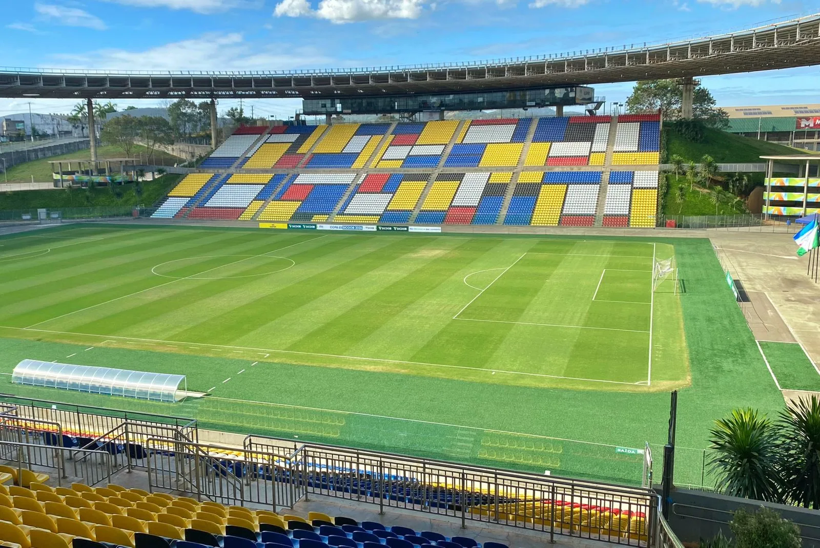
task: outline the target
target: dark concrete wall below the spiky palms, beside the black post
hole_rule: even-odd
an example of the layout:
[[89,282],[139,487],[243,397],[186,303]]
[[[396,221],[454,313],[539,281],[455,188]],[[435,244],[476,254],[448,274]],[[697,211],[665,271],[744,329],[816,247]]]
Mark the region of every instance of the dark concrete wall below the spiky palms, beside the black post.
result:
[[731,537],[728,523],[732,514],[740,507],[754,512],[761,506],[767,506],[790,519],[800,528],[805,548],[820,548],[820,512],[806,510],[795,506],[776,505],[759,500],[740,499],[734,496],[723,496],[705,491],[676,489],[672,491],[672,510],[669,525],[683,542],[708,540],[722,531],[725,537]]

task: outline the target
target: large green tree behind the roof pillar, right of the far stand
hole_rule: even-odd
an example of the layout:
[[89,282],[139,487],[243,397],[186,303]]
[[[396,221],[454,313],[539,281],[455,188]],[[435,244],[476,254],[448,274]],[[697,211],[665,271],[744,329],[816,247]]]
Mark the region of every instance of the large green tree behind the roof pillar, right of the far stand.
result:
[[[631,95],[626,97],[626,107],[631,113],[657,112],[659,109],[665,119],[679,120],[682,100],[683,86],[679,80],[641,80],[632,88]],[[692,115],[695,120],[724,129],[728,125],[728,114],[717,108],[716,104],[707,88],[700,84],[695,86],[692,97]]]

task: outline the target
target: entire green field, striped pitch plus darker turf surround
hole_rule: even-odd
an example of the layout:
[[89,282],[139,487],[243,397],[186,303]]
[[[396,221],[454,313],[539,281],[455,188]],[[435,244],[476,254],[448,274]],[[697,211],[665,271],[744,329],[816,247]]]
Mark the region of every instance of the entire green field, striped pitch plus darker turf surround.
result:
[[[84,224],[0,245],[0,372],[175,372],[211,395],[0,392],[636,482],[642,457],[615,447],[663,444],[679,388],[681,483],[701,482],[713,419],[782,401],[703,239]],[[672,255],[685,292],[652,292]]]

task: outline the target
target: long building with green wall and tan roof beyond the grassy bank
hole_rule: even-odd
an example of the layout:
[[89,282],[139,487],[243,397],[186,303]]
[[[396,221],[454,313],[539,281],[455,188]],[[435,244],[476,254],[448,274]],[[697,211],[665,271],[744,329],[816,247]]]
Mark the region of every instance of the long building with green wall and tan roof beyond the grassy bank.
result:
[[731,134],[820,151],[820,105],[724,106]]

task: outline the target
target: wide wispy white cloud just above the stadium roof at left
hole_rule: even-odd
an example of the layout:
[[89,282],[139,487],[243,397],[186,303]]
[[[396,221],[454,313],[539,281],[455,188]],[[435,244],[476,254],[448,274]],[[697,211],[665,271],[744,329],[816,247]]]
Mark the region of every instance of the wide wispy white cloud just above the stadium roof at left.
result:
[[203,34],[141,52],[108,48],[54,61],[73,68],[108,70],[276,70],[339,66],[318,48],[285,43],[247,43],[241,33]]

